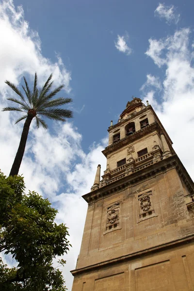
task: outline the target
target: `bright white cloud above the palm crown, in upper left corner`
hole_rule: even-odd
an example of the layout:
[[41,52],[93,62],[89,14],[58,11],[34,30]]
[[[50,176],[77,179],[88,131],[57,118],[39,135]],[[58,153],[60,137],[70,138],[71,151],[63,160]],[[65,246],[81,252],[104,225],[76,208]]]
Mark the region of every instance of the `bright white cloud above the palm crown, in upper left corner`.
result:
[[22,74],[31,78],[37,71],[39,82],[43,83],[53,73],[55,85],[64,83],[67,93],[71,88],[71,73],[65,68],[59,54],[52,63],[41,53],[41,41],[37,32],[30,29],[24,20],[22,6],[14,7],[13,0],[0,2],[0,89],[3,81],[9,80],[18,84]]

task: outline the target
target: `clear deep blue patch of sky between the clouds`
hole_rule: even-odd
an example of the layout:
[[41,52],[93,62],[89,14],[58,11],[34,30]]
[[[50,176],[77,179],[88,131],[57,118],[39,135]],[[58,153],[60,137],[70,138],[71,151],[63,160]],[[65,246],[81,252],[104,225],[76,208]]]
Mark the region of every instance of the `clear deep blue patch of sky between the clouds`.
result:
[[[145,55],[148,39],[193,27],[193,1],[165,2],[181,13],[178,25],[166,25],[154,16],[158,2],[153,0],[14,2],[22,4],[25,19],[38,32],[43,55],[54,61],[54,52],[59,52],[71,71],[74,107],[79,112],[84,106],[81,113],[75,112],[74,124],[84,135],[85,151],[106,136],[110,120],[117,121],[132,95],[141,97],[147,73],[162,75]],[[117,35],[126,33],[133,51],[129,56],[114,46]]]

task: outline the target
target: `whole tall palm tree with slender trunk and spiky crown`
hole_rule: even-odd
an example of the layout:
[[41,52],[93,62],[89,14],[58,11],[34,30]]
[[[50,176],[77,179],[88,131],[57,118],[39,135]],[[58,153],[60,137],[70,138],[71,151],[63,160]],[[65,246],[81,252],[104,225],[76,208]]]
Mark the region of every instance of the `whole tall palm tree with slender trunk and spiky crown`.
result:
[[16,123],[23,119],[26,119],[24,123],[23,131],[21,134],[19,147],[18,147],[16,157],[12,165],[12,169],[9,176],[17,175],[19,172],[19,167],[24,155],[26,141],[28,138],[29,128],[30,128],[32,119],[34,117],[36,119],[37,128],[39,128],[39,126],[41,125],[43,128],[47,129],[48,128],[47,124],[45,123],[43,119],[39,117],[39,115],[42,115],[43,118],[47,117],[52,120],[60,120],[60,121],[65,121],[65,118],[71,118],[73,116],[72,111],[58,108],[59,106],[72,102],[71,98],[60,97],[60,98],[52,99],[52,97],[54,97],[64,87],[64,85],[60,85],[54,88],[54,90],[50,91],[53,84],[53,81],[51,82],[52,74],[49,76],[49,79],[46,81],[42,89],[38,89],[37,88],[37,74],[35,73],[34,85],[33,85],[32,91],[29,89],[29,86],[25,77],[23,78],[25,81],[25,87],[22,86],[22,88],[25,92],[25,95],[26,95],[25,97],[13,83],[11,83],[10,81],[5,81],[5,83],[10,88],[12,88],[12,90],[14,90],[14,92],[16,92],[16,94],[19,96],[18,98],[9,97],[7,98],[7,100],[10,100],[19,104],[19,107],[5,107],[2,109],[2,111],[24,112],[25,114],[22,117],[18,118],[16,120]]

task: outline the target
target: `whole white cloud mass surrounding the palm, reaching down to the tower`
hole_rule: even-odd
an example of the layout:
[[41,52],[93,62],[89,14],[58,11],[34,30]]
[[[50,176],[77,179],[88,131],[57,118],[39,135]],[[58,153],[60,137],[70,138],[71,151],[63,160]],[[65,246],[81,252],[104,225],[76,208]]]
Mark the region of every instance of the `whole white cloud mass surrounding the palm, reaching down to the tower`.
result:
[[[57,61],[53,63],[42,55],[38,33],[32,32],[24,20],[22,7],[16,10],[12,0],[0,2],[0,39],[0,67],[3,68],[0,70],[0,110],[7,105],[8,94],[13,94],[4,81],[19,84],[22,75],[33,79],[35,71],[40,84],[53,72],[54,84],[65,83],[66,92],[70,92],[71,74],[61,57],[57,54]],[[13,112],[0,112],[0,161],[5,175],[9,175],[23,127],[22,122],[15,125],[17,116]],[[76,266],[87,209],[81,195],[90,191],[97,164],[101,163],[104,169],[106,160],[101,150],[107,140],[94,144],[85,154],[81,139],[73,123],[54,123],[50,131],[36,129],[32,122],[19,171],[24,173],[27,190],[48,197],[59,210],[56,221],[69,227],[73,248],[65,257],[67,264],[63,270],[69,290],[73,280],[70,270]],[[11,259],[7,258],[7,262],[10,265]]]

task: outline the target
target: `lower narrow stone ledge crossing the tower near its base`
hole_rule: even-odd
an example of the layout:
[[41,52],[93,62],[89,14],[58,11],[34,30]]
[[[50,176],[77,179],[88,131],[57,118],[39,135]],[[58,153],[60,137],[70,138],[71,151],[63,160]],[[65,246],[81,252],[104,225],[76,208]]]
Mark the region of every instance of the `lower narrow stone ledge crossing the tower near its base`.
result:
[[120,263],[120,262],[123,262],[123,261],[137,259],[137,258],[140,258],[140,257],[143,257],[143,256],[148,256],[148,255],[151,255],[153,253],[164,251],[165,249],[169,249],[169,248],[172,248],[172,247],[177,247],[179,245],[185,244],[186,242],[187,243],[194,242],[194,235],[186,236],[186,237],[184,237],[182,239],[175,240],[175,241],[172,241],[172,242],[158,244],[157,246],[154,246],[154,247],[151,247],[151,248],[148,248],[148,249],[144,249],[144,250],[142,250],[140,252],[135,252],[135,253],[132,253],[132,254],[129,254],[129,255],[117,257],[115,259],[106,260],[106,261],[103,261],[101,263],[97,263],[97,264],[94,264],[94,265],[89,265],[89,266],[84,267],[84,268],[72,270],[71,274],[73,276],[80,275],[80,274],[88,272],[88,271],[93,271],[95,269],[99,269],[99,268],[102,268],[102,267],[107,267],[109,265],[113,265],[113,264]]

